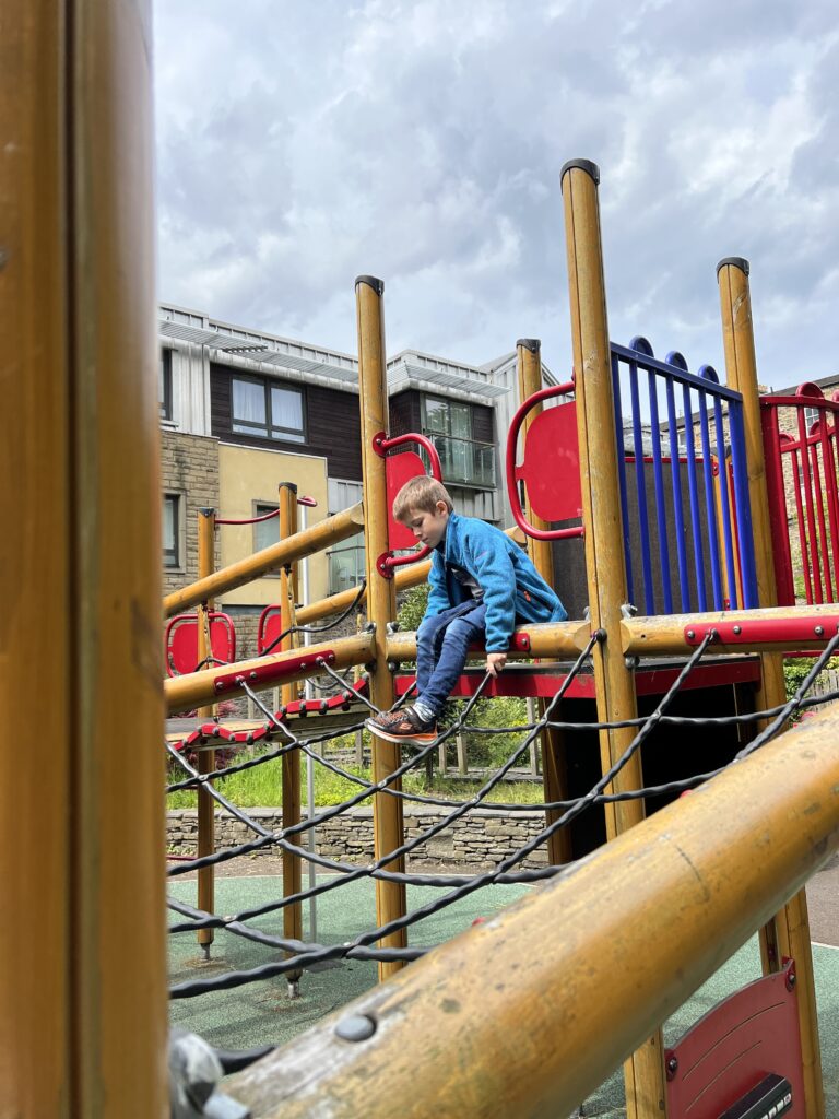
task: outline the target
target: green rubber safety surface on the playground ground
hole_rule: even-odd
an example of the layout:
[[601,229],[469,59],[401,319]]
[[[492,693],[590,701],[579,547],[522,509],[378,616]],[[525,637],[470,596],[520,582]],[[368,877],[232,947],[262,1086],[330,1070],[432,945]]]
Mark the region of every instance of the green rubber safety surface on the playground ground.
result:
[[[319,876],[319,884],[324,878]],[[412,927],[412,944],[432,946],[450,940],[468,929],[475,918],[489,916],[532,887],[496,885],[461,899]],[[196,904],[195,882],[169,883],[172,896]],[[341,943],[367,931],[374,924],[375,887],[369,880],[347,883],[317,899],[317,939],[323,944]],[[435,886],[408,886],[408,910],[440,897],[447,891]],[[239,913],[256,909],[282,894],[277,877],[218,878],[216,912]],[[309,903],[303,903],[303,939],[310,938]],[[171,914],[177,920],[176,914]],[[282,935],[279,911],[247,922],[257,929]],[[276,953],[227,932],[217,932],[206,961],[194,933],[169,938],[170,979],[172,984],[258,967]],[[839,1116],[839,948],[813,944],[813,963],[819,1006],[819,1032],[828,1116]],[[754,938],[732,957],[664,1025],[664,1044],[672,1045],[695,1022],[727,995],[761,975],[757,939]],[[290,999],[283,976],[252,982],[230,990],[170,1004],[173,1025],[200,1034],[219,1049],[252,1049],[257,1045],[284,1045],[314,1025],[321,1017],[352,1002],[377,981],[375,962],[348,960],[304,972],[300,997]],[[623,1075],[618,1070],[585,1101],[586,1119],[619,1119],[625,1115]]]

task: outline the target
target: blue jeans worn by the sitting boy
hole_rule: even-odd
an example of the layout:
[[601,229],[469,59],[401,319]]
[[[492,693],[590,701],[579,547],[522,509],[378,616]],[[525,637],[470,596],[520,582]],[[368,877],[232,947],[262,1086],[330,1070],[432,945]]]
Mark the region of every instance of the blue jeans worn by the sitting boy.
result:
[[473,641],[483,641],[487,608],[472,599],[423,619],[416,633],[417,702],[439,715]]

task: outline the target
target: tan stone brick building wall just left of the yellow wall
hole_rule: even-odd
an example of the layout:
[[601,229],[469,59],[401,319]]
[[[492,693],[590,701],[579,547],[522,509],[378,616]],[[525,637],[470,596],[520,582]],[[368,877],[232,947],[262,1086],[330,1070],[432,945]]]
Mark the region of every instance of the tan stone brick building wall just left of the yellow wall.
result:
[[163,568],[163,594],[170,594],[198,579],[198,510],[218,508],[218,440],[166,429],[160,434],[163,492],[183,495],[180,502],[185,526],[180,540],[182,570]]

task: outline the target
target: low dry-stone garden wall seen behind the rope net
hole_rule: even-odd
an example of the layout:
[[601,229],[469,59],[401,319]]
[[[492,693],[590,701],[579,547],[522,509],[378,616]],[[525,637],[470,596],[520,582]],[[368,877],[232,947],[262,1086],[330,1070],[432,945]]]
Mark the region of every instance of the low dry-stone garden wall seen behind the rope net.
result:
[[[264,828],[277,831],[282,812],[274,808],[252,808],[248,815]],[[405,811],[405,835],[413,839],[426,831],[445,815],[443,809],[411,808]],[[440,835],[426,840],[409,856],[409,866],[432,864],[460,866],[470,872],[497,866],[513,850],[545,827],[539,811],[506,812],[473,809]],[[178,854],[194,855],[198,835],[195,809],[170,811],[167,817],[169,848]],[[254,838],[254,833],[227,814],[216,814],[216,849],[235,847]],[[373,809],[357,808],[318,825],[318,854],[346,863],[369,863],[373,858]],[[276,848],[270,848],[276,854]],[[257,856],[260,857],[260,856]],[[521,864],[524,867],[546,866],[547,852],[538,848]]]

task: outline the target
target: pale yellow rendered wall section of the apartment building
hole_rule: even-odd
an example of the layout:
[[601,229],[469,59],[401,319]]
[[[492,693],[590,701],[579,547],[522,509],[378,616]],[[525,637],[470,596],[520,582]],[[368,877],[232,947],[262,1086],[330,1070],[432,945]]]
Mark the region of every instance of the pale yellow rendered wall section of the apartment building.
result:
[[[307,454],[286,454],[279,451],[258,451],[249,446],[218,448],[218,516],[253,517],[254,502],[276,505],[280,482],[294,482],[300,497],[313,497],[317,508],[308,509],[309,524],[314,525],[328,516],[327,460]],[[303,510],[299,508],[302,525]],[[218,529],[221,566],[251,555],[254,548],[253,525],[221,525]],[[326,553],[309,560],[309,599],[317,602],[326,598],[328,583]],[[302,572],[300,593],[302,596]],[[276,602],[280,580],[257,579],[224,595],[224,603],[267,605]]]

